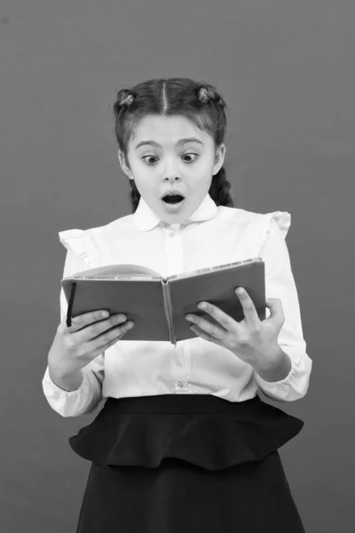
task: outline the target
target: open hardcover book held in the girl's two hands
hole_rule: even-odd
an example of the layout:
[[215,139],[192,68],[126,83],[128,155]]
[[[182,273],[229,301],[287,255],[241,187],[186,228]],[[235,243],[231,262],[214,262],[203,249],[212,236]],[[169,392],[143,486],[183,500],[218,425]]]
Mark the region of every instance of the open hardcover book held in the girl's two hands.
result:
[[[220,326],[197,307],[207,301],[241,322],[244,314],[235,289],[243,287],[265,319],[264,260],[246,259],[163,277],[139,265],[106,265],[75,273],[61,280],[67,299],[67,326],[79,314],[106,309],[125,314],[134,322],[124,340],[177,341],[198,337],[185,319],[192,313]],[[221,327],[221,326],[220,326]]]

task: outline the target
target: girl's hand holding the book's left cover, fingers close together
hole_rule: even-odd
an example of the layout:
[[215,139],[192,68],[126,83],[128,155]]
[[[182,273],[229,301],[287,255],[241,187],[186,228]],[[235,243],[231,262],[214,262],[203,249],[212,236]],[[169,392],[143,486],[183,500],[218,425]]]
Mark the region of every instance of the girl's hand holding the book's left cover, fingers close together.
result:
[[134,326],[133,322],[126,322],[124,314],[113,314],[105,319],[102,313],[100,310],[79,314],[72,318],[69,328],[67,316],[64,316],[48,354],[48,364],[58,375],[81,370]]

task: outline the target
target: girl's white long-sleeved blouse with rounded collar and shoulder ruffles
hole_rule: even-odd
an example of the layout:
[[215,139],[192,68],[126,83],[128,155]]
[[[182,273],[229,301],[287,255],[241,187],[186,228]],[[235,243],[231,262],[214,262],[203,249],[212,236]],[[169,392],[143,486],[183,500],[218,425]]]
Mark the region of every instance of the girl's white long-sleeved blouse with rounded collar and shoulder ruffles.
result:
[[[140,198],[134,214],[106,226],[59,232],[67,248],[63,278],[89,268],[136,264],[162,275],[180,274],[242,259],[265,263],[265,296],[280,298],[285,322],[278,342],[292,368],[286,378],[264,381],[226,348],[200,337],[177,342],[119,340],[83,368],[83,382],[65,391],[51,381],[48,366],[43,392],[63,417],[91,413],[103,399],[155,394],[214,394],[243,402],[258,389],[276,402],[302,398],[308,389],[312,359],[306,354],[296,284],[285,237],[288,212],[260,214],[217,206],[206,195],[185,225],[160,221]],[[236,296],[237,298],[237,296]],[[60,288],[60,321],[67,300]],[[266,308],[266,318],[270,310]]]

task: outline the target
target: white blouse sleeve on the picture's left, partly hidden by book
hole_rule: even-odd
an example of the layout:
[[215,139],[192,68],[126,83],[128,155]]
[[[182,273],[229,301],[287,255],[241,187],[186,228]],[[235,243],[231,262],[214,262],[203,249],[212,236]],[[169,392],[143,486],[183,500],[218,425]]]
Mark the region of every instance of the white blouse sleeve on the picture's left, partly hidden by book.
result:
[[[82,270],[91,268],[89,244],[84,230],[74,229],[59,233],[59,239],[67,248],[63,278]],[[60,322],[67,314],[67,299],[60,287]],[[82,369],[83,381],[75,391],[65,391],[57,386],[49,374],[49,368],[44,372],[42,386],[43,393],[51,408],[62,417],[77,417],[88,415],[95,410],[102,398],[102,383],[104,380],[105,352],[99,354],[93,361]]]

